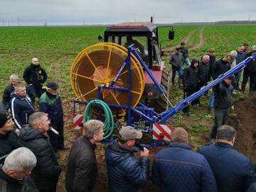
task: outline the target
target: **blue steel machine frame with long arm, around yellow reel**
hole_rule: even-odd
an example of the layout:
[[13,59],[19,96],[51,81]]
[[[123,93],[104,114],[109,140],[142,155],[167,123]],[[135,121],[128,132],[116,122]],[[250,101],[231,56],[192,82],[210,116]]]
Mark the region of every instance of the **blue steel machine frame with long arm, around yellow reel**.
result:
[[[164,112],[161,112],[160,114],[154,111],[154,108],[149,108],[146,107],[146,105],[143,105],[141,102],[139,102],[137,107],[131,107],[131,82],[132,82],[132,73],[131,73],[131,63],[130,63],[130,58],[131,58],[131,53],[136,56],[136,58],[139,60],[139,63],[141,63],[142,67],[146,72],[149,74],[149,77],[151,80],[154,82],[156,85],[157,89],[159,90],[160,94],[164,94],[164,90],[162,90],[161,86],[159,83],[156,81],[154,78],[154,75],[151,73],[149,70],[148,66],[146,63],[144,63],[144,60],[139,56],[137,53],[137,50],[134,49],[134,44],[129,46],[127,48],[127,58],[124,60],[124,63],[121,65],[119,68],[117,75],[115,76],[114,80],[111,82],[110,86],[108,87],[102,87],[98,86],[98,91],[97,95],[99,100],[102,100],[102,89],[107,89],[107,90],[120,90],[120,91],[126,91],[128,92],[128,105],[113,105],[113,104],[107,104],[109,107],[117,107],[117,108],[122,108],[122,109],[127,109],[127,124],[131,125],[132,123],[136,122],[136,118],[132,116],[133,112],[134,114],[139,114],[140,117],[142,117],[144,120],[151,122],[151,123],[158,123],[158,124],[164,124],[170,117],[174,116],[177,112],[180,110],[183,110],[189,103],[193,100],[195,100],[197,97],[200,95],[203,95],[204,92],[209,90],[211,87],[217,85],[221,81],[225,80],[225,78],[228,78],[230,75],[238,72],[239,70],[242,70],[242,68],[245,68],[247,63],[250,62],[252,59],[256,59],[256,54],[251,55],[249,58],[246,58],[243,60],[241,63],[235,66],[235,68],[232,68],[228,70],[226,73],[218,77],[217,79],[213,80],[213,82],[210,82],[208,85],[205,87],[202,87],[201,90],[198,90],[198,92],[193,93],[193,95],[190,95],[186,97],[184,100],[181,100],[176,106],[171,107]],[[119,78],[119,75],[122,73],[122,70],[124,70],[124,67],[128,65],[129,71],[128,71],[128,87],[114,87],[114,83],[116,80]],[[75,104],[76,103],[85,103],[87,104],[89,101],[78,101],[74,100],[74,113],[75,113]]]

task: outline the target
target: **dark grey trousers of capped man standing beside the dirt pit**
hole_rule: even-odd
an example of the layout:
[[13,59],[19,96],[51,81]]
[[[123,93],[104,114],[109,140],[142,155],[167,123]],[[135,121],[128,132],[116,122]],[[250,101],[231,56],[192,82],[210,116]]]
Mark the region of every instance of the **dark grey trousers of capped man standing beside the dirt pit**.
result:
[[217,129],[227,122],[229,112],[230,108],[228,110],[215,109],[214,124],[210,132],[210,139],[216,139]]

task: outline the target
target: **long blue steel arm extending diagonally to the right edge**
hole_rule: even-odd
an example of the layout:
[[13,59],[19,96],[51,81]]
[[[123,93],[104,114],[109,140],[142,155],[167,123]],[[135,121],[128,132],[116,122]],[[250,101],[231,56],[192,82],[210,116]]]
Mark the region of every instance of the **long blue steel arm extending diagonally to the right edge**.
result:
[[213,80],[213,82],[210,82],[206,87],[202,87],[201,90],[198,90],[198,92],[193,93],[193,95],[190,95],[189,97],[186,97],[184,100],[179,102],[176,106],[171,107],[169,110],[166,110],[161,113],[161,119],[159,120],[159,124],[162,124],[166,122],[170,117],[174,116],[177,112],[180,110],[183,110],[191,101],[195,100],[200,95],[203,95],[204,92],[209,90],[211,87],[217,85],[221,81],[228,78],[230,75],[238,72],[239,70],[242,70],[242,68],[245,68],[245,66],[250,62],[250,60],[256,59],[256,54],[251,55],[249,58],[243,60],[241,63],[235,66],[235,68],[232,68],[228,70],[226,73],[218,77],[217,79]]

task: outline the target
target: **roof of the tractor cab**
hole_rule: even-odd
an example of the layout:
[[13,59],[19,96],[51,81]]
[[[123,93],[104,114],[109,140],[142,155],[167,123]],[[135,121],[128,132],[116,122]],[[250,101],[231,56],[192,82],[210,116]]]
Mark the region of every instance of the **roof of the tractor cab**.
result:
[[106,31],[148,31],[151,32],[156,28],[154,23],[150,22],[126,22],[109,26]]

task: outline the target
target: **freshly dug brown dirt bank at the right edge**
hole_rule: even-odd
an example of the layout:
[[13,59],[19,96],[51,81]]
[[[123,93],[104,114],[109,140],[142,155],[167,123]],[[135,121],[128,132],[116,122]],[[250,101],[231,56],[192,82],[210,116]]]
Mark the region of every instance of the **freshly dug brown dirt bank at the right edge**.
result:
[[234,116],[228,124],[237,130],[235,149],[256,163],[256,95],[235,102]]

